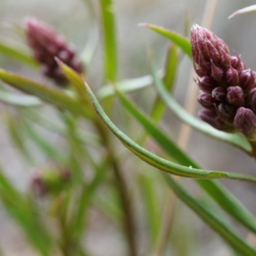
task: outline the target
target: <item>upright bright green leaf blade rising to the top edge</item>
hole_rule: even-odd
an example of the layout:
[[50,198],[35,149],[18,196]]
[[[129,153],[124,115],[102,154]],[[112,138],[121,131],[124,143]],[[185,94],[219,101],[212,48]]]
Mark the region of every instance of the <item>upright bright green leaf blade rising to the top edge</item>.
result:
[[99,0],[104,34],[104,69],[107,81],[116,81],[117,45],[115,28],[115,6],[112,0]]

